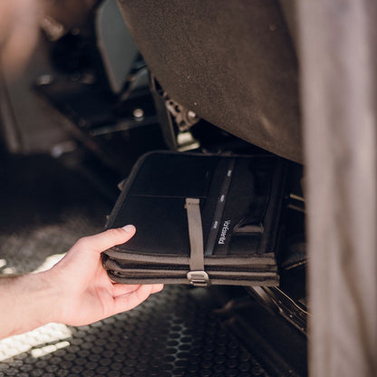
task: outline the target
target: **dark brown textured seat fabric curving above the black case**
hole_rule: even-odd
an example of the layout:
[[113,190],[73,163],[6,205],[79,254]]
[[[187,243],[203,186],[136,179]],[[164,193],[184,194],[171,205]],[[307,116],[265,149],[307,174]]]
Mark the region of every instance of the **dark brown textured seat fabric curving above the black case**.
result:
[[297,61],[274,0],[119,0],[169,96],[259,147],[302,162]]

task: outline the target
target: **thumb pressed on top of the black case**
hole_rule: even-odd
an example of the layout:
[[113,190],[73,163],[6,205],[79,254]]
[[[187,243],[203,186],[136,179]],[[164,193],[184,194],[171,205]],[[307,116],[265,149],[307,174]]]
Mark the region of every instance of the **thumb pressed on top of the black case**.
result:
[[83,237],[77,242],[77,247],[90,249],[92,252],[102,253],[108,248],[115,247],[127,242],[136,232],[133,225],[108,229],[90,237]]

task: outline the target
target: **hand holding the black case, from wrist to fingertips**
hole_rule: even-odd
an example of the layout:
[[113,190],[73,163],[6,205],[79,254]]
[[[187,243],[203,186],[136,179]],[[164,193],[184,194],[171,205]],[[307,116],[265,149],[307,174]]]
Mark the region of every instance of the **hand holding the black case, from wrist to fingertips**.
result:
[[132,309],[160,292],[163,285],[123,285],[111,281],[102,267],[102,251],[127,242],[135,227],[109,229],[79,239],[63,259],[44,274],[56,292],[53,322],[92,324]]

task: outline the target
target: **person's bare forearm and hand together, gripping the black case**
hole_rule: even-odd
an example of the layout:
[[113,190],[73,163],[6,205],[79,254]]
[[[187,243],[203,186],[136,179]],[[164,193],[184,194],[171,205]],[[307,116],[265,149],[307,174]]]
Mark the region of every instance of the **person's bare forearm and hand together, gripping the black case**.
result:
[[0,339],[50,322],[92,324],[159,292],[162,285],[114,283],[102,267],[102,251],[134,233],[128,226],[83,237],[47,271],[0,278]]

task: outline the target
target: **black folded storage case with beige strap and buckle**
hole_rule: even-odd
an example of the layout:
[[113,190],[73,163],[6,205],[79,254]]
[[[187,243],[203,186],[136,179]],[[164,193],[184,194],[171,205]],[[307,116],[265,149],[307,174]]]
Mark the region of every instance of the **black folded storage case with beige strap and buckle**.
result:
[[284,191],[274,156],[148,153],[106,225],[136,234],[102,264],[125,284],[277,285]]

